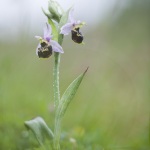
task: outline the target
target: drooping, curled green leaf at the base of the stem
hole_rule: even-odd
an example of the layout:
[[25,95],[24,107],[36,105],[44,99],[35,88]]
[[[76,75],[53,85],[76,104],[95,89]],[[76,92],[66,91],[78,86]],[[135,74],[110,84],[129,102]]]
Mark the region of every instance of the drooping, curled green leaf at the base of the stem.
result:
[[25,121],[24,124],[28,129],[30,129],[34,133],[40,145],[43,145],[45,137],[51,140],[54,137],[52,131],[48,128],[47,124],[41,117],[36,117],[32,120]]

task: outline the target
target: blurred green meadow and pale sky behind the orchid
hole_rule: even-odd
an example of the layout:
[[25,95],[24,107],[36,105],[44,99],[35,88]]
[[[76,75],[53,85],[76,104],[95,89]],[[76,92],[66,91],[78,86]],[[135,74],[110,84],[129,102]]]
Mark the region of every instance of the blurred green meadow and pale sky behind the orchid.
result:
[[[74,4],[87,22],[85,45],[65,37],[61,94],[89,66],[62,122],[70,148],[150,149],[150,1],[59,0]],[[7,0],[0,5],[0,149],[38,147],[24,121],[36,116],[53,129],[53,57],[38,59],[47,1]],[[74,147],[74,148],[73,148]]]

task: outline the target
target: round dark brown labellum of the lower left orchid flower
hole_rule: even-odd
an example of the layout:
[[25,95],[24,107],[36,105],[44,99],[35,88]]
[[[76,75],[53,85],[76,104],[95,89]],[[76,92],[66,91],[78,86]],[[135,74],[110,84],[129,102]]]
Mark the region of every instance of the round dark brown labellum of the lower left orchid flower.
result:
[[46,42],[41,43],[41,47],[38,48],[39,58],[48,58],[52,55],[52,46]]

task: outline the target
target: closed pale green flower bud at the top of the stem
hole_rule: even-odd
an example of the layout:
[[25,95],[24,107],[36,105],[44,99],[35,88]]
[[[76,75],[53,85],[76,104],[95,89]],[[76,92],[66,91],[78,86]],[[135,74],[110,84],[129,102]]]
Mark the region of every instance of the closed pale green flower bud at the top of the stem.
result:
[[55,21],[59,22],[63,13],[61,6],[55,0],[49,0],[48,10],[52,15],[51,19],[54,19]]

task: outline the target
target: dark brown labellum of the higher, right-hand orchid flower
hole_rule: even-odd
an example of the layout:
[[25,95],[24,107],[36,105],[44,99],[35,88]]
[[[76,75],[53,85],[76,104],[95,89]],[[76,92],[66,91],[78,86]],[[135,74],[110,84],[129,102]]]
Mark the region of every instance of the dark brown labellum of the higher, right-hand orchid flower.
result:
[[72,33],[72,40],[76,43],[82,43],[83,41],[83,35],[81,32],[79,32],[79,28],[75,28],[71,30]]

